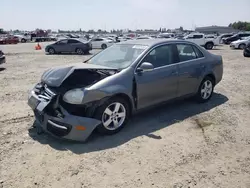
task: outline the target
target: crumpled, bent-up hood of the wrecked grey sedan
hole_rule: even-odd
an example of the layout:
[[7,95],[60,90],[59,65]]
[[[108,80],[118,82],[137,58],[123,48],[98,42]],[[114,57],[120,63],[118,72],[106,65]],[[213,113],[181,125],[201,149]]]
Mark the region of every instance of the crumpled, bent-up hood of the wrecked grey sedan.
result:
[[63,81],[68,78],[75,70],[116,70],[115,68],[105,67],[101,65],[77,63],[67,66],[58,66],[45,71],[41,81],[51,87],[59,87]]

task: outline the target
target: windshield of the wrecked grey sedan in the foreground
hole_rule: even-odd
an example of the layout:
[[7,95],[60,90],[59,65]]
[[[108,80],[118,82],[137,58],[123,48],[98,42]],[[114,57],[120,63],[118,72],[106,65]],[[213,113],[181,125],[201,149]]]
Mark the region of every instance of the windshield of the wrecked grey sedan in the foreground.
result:
[[88,63],[124,69],[147,48],[146,45],[115,44],[91,58]]

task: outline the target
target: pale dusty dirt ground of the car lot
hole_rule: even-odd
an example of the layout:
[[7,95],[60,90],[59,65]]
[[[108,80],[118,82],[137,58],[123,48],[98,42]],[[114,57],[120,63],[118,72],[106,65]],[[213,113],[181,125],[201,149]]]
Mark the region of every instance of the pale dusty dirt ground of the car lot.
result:
[[[42,44],[44,49],[45,43]],[[88,56],[45,55],[34,44],[0,46],[0,188],[250,187],[250,59],[218,47],[224,77],[212,100],[179,101],[135,116],[118,134],[87,143],[29,130],[29,89],[55,65]],[[95,51],[93,52],[95,53]]]

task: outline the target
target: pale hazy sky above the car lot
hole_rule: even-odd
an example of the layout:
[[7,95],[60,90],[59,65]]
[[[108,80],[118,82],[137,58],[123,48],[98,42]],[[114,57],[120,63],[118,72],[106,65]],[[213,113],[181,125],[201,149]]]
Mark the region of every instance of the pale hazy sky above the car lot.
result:
[[250,22],[250,0],[0,0],[4,30],[194,29]]

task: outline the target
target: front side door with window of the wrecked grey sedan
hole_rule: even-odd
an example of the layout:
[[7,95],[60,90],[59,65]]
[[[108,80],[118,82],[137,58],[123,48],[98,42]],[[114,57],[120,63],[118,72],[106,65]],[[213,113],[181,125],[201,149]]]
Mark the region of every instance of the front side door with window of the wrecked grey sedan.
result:
[[154,69],[135,73],[138,109],[177,96],[178,67],[175,65],[173,47],[170,44],[156,47],[141,61],[151,63]]

